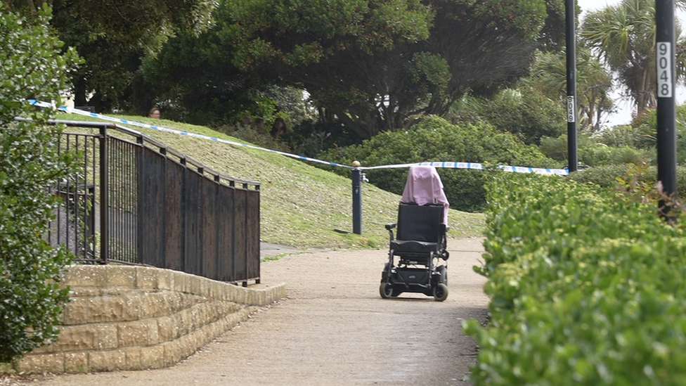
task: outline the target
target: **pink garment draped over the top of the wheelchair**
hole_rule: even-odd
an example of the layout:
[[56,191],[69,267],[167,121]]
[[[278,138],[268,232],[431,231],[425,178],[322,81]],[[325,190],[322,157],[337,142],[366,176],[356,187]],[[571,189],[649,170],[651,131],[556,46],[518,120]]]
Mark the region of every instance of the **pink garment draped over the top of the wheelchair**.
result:
[[448,224],[448,207],[450,203],[443,191],[441,176],[432,166],[410,167],[408,179],[403,191],[402,202],[414,202],[417,205],[443,204],[444,223]]

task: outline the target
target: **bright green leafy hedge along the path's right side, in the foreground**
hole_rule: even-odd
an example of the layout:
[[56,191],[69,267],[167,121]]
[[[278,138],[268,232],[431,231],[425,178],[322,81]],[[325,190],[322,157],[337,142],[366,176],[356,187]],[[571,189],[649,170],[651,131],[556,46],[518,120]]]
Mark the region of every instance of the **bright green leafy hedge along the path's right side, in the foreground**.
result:
[[656,205],[546,176],[489,182],[476,385],[686,384],[685,231]]

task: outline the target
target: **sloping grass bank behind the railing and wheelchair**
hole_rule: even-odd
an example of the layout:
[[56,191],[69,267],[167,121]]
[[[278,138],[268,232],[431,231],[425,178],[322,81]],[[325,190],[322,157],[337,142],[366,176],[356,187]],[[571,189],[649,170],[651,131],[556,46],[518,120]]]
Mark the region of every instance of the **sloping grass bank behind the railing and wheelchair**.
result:
[[[169,120],[151,120],[148,117],[117,117],[242,143],[239,139],[207,127]],[[60,114],[56,119],[97,120],[72,114]],[[218,172],[239,179],[260,181],[260,238],[264,242],[299,248],[388,245],[388,232],[384,229],[384,224],[396,221],[399,195],[382,191],[372,184],[363,184],[363,234],[338,233],[334,229],[352,231],[350,179],[326,172],[306,162],[263,150],[142,127],[128,127],[141,131]],[[73,129],[67,129],[70,130]],[[451,237],[481,236],[484,229],[482,214],[451,210],[448,221],[451,226]]]

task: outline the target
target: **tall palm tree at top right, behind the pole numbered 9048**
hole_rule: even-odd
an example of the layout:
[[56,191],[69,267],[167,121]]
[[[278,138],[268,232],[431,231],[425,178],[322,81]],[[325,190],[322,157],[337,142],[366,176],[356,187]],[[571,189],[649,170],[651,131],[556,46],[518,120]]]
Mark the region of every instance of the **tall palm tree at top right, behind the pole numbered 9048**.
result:
[[[686,8],[686,0],[675,0],[675,4]],[[675,30],[679,36],[678,20],[675,20]],[[623,0],[619,5],[590,13],[583,20],[581,37],[581,43],[597,50],[626,87],[638,116],[647,108],[655,107],[655,1]],[[677,53],[682,51],[680,44],[677,44]],[[682,67],[677,65],[677,70]],[[682,79],[683,73],[679,76],[678,79]]]

